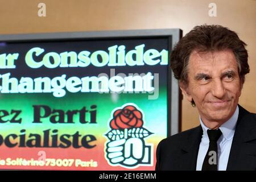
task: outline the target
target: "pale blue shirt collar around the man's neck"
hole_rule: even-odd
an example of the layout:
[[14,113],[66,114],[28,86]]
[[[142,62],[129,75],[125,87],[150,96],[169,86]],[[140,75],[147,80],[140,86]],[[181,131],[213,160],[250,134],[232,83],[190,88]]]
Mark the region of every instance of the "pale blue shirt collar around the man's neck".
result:
[[[234,114],[232,115],[232,117],[220,126],[220,130],[226,140],[230,140],[234,137],[234,131],[235,131],[235,128],[237,125],[238,114],[239,114],[239,108],[237,106],[237,109],[234,112]],[[201,127],[203,129],[203,137],[204,136],[207,137],[208,136],[207,130],[209,128],[204,125],[201,117],[199,117],[199,119],[200,119]]]

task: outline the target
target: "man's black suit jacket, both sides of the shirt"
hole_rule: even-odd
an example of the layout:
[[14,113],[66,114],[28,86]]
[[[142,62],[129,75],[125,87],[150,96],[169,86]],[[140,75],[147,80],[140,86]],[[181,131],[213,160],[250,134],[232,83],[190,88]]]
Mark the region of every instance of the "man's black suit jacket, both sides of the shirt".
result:
[[[240,105],[227,170],[256,170],[256,114]],[[196,170],[201,126],[163,139],[156,150],[156,170]]]

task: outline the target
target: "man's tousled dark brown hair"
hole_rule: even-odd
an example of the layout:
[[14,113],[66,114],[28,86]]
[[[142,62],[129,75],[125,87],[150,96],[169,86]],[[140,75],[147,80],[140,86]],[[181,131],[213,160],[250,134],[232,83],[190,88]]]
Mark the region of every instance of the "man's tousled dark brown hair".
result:
[[177,80],[188,84],[187,65],[192,51],[211,52],[233,51],[237,60],[238,71],[242,82],[245,75],[250,72],[247,63],[248,53],[246,43],[238,38],[236,32],[220,25],[196,26],[176,44],[170,55],[171,68]]

